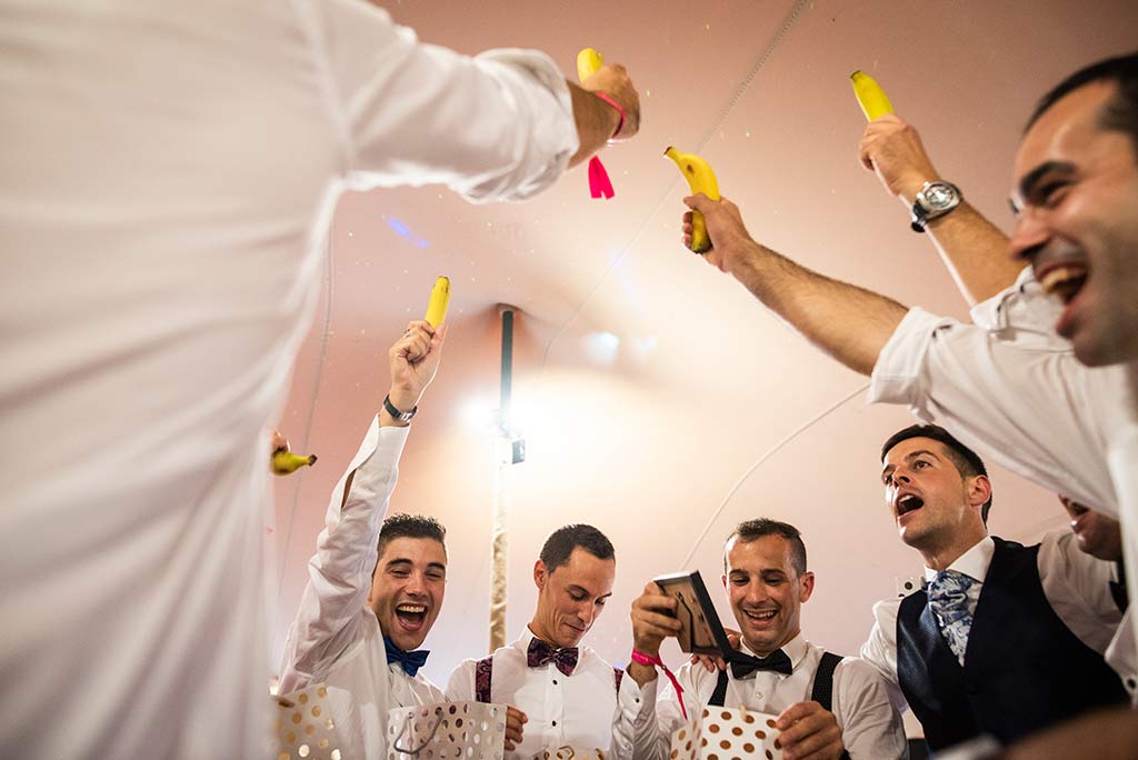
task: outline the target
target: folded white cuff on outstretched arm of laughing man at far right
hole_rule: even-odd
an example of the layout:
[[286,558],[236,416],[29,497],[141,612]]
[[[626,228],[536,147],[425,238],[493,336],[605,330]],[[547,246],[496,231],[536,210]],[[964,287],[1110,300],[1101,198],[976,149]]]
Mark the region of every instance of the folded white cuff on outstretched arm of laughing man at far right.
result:
[[953,320],[910,308],[877,355],[869,380],[869,404],[909,404],[921,395],[921,377],[933,333]]

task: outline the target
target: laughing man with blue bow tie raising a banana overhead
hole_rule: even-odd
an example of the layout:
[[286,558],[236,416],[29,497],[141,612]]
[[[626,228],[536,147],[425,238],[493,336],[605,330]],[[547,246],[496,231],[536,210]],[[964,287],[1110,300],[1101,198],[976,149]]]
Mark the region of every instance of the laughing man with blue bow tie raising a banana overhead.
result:
[[422,645],[443,608],[446,531],[431,518],[387,505],[410,431],[435,377],[443,332],[412,322],[391,347],[391,388],[360,451],[332,491],[308,585],[284,642],[280,693],[328,685],[345,758],[384,758],[387,711],[442,702],[418,670]]

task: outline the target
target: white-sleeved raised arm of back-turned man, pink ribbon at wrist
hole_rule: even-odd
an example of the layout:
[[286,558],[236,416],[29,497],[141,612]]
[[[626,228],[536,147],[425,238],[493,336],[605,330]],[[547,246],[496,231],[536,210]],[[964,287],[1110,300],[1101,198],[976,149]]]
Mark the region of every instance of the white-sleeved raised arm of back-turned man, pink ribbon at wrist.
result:
[[636,134],[640,100],[620,66],[566,82],[536,50],[470,57],[421,42],[381,8],[319,3],[313,48],[355,187],[446,184],[477,203],[529,198],[613,135]]

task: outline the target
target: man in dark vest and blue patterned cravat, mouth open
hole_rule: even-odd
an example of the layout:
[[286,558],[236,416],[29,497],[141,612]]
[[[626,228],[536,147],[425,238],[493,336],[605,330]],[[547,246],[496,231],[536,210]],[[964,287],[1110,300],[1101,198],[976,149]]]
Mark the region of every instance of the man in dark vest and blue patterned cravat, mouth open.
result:
[[982,735],[1008,744],[1125,701],[1102,656],[1121,618],[1112,562],[1079,551],[1070,531],[1030,547],[989,536],[984,464],[942,428],[894,433],[882,464],[887,504],[927,586],[875,605],[861,656],[900,692],[933,751]]

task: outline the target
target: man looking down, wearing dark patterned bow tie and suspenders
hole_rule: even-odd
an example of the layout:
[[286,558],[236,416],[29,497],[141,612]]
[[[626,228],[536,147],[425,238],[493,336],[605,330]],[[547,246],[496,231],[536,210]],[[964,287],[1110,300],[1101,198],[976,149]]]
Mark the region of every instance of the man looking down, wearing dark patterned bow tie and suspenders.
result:
[[534,563],[537,608],[518,641],[451,674],[450,700],[509,704],[508,758],[571,746],[632,757],[640,689],[591,646],[588,629],[612,595],[612,543],[587,524],[553,531]]

